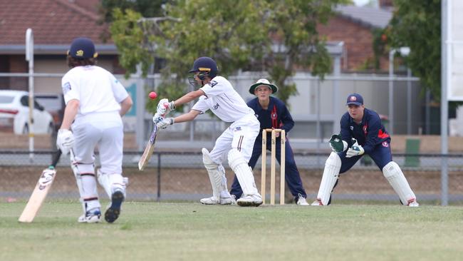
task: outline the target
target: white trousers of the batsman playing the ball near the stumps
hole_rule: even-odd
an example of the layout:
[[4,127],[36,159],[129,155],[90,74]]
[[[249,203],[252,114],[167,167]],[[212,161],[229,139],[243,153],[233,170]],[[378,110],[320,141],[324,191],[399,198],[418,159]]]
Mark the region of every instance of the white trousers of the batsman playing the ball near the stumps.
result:
[[222,164],[222,161],[227,158],[229,150],[236,148],[241,152],[246,162],[249,162],[252,148],[254,148],[254,141],[259,135],[260,128],[261,123],[251,113],[231,123],[229,128],[215,141],[214,148],[209,153],[211,159],[217,164]]

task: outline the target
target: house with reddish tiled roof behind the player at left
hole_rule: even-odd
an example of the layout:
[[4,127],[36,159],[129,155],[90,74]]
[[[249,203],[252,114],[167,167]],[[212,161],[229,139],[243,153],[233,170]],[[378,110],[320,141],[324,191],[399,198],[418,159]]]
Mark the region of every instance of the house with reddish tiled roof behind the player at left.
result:
[[[33,30],[34,72],[66,73],[66,51],[78,36],[93,39],[98,64],[120,71],[117,50],[100,36],[108,26],[98,24],[98,0],[0,0],[0,73],[26,73],[26,29]],[[60,91],[61,78],[35,78],[37,92]],[[28,89],[26,77],[0,77],[0,89]]]

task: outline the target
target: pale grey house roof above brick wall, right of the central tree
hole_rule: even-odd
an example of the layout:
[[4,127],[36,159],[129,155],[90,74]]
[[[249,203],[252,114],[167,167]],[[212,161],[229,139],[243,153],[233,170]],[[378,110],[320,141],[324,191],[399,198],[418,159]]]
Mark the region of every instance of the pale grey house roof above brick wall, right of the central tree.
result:
[[335,11],[346,19],[355,21],[363,26],[383,29],[392,19],[390,9],[373,8],[369,6],[337,6]]

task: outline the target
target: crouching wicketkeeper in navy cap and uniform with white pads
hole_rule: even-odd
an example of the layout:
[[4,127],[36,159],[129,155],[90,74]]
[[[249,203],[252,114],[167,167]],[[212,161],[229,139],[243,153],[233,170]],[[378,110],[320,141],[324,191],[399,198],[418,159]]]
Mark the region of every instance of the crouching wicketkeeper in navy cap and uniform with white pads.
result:
[[346,102],[348,111],[340,119],[340,135],[333,135],[330,147],[333,152],[325,163],[317,199],[312,205],[329,205],[331,192],[338,184],[340,173],[347,170],[368,154],[389,181],[402,205],[418,207],[417,198],[408,185],[399,165],[392,161],[390,135],[375,111],[365,108],[363,97],[349,94]]

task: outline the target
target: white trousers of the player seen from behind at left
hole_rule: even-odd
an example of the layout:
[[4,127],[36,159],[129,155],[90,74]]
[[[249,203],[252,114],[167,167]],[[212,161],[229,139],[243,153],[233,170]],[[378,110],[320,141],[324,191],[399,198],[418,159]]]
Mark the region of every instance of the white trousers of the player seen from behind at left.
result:
[[95,163],[94,150],[100,153],[100,171],[122,174],[123,122],[118,111],[90,113],[76,118],[72,125],[76,143],[75,160],[82,165]]

